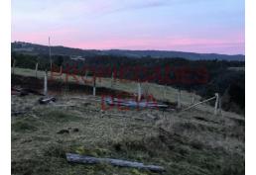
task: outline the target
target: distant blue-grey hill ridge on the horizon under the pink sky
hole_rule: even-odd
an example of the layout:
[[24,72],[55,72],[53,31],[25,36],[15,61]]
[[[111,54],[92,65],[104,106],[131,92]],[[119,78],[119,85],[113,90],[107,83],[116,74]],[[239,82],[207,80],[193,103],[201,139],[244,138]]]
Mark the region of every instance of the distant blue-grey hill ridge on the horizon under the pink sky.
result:
[[[169,51],[169,50],[126,50],[126,49],[80,49],[71,48],[61,45],[52,46],[52,54],[74,55],[74,56],[95,56],[95,55],[118,55],[127,57],[152,57],[152,58],[164,58],[164,57],[183,57],[191,60],[198,59],[218,59],[218,60],[245,60],[243,54],[217,54],[217,53],[195,53],[195,52],[183,52],[183,51]],[[48,54],[48,45],[43,44],[30,44],[24,42],[12,43],[12,51],[33,53],[33,54]]]

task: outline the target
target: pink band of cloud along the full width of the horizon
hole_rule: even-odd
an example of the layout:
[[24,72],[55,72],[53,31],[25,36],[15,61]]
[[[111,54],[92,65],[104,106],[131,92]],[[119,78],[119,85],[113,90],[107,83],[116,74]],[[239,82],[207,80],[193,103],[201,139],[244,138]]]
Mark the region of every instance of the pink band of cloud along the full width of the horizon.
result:
[[[51,34],[51,35],[50,35]],[[38,44],[48,44],[52,37],[53,45],[64,45],[84,49],[161,49],[192,52],[244,53],[244,38],[230,35],[226,39],[196,39],[196,38],[117,38],[117,37],[79,37],[75,29],[55,30],[51,33],[37,32],[31,34],[12,34],[16,41],[26,41]],[[85,42],[83,42],[85,41]]]

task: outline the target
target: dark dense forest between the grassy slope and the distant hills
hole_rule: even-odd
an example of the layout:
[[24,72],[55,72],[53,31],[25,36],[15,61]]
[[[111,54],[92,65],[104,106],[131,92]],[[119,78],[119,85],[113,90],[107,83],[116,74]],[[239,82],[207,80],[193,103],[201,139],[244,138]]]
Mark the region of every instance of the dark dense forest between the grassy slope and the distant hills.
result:
[[[12,63],[14,59],[17,67],[35,69],[37,62],[40,70],[50,67],[47,54],[12,52]],[[72,60],[67,55],[52,55],[52,59],[54,70],[58,70],[62,65],[63,70],[68,73],[84,75],[87,72],[89,75],[101,77],[111,77],[114,74],[116,78],[149,81],[186,89],[203,98],[218,92],[222,96],[224,110],[244,114],[244,61],[150,56],[134,58],[118,55],[91,55],[84,60]]]

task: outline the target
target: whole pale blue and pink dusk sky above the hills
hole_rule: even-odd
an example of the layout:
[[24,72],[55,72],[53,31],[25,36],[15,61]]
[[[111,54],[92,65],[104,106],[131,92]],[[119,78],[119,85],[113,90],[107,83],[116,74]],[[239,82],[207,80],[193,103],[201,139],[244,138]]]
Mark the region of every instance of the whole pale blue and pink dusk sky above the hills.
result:
[[12,41],[244,53],[244,0],[12,0]]

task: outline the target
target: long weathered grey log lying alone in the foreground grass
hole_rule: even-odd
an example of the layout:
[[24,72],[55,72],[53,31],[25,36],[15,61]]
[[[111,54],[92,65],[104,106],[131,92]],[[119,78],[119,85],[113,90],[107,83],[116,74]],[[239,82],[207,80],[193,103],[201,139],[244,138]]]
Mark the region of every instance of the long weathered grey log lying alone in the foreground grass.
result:
[[151,170],[154,172],[165,171],[165,168],[162,166],[144,165],[143,163],[140,163],[140,162],[132,162],[132,161],[121,160],[121,159],[96,158],[96,157],[84,156],[84,155],[73,154],[73,153],[66,153],[65,156],[67,161],[71,163],[84,163],[84,164],[109,163],[114,166],[139,168],[139,169]]

